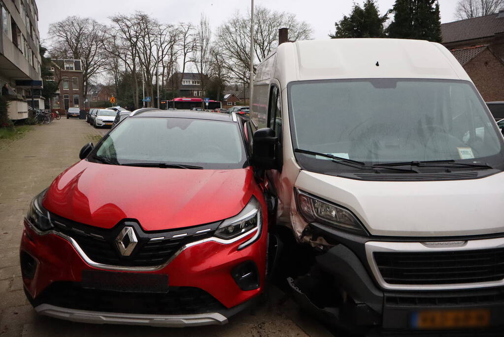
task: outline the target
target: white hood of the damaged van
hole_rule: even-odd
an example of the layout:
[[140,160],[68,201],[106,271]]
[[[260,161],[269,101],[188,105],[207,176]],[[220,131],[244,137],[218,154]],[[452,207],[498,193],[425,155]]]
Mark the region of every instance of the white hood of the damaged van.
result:
[[473,180],[370,182],[301,171],[295,186],[350,209],[371,235],[504,232],[504,173]]

